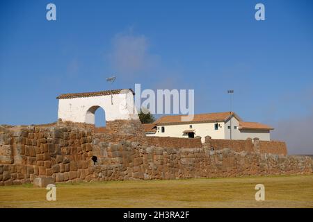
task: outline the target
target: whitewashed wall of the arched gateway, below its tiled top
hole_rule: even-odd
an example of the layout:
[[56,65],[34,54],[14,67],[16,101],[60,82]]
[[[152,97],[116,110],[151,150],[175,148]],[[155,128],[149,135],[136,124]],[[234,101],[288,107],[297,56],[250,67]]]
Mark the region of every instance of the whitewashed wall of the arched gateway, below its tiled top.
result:
[[[113,104],[112,104],[113,102]],[[58,100],[58,119],[95,124],[95,110],[104,109],[106,121],[139,119],[132,92]]]

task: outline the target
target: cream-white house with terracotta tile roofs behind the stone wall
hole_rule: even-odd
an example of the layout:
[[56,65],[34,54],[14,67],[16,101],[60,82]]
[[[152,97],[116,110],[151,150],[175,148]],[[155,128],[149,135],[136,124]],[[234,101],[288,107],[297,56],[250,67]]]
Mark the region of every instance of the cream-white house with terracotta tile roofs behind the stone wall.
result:
[[147,136],[185,137],[200,136],[202,142],[209,135],[212,139],[247,139],[258,137],[270,140],[271,126],[245,122],[234,112],[195,114],[193,121],[182,121],[182,115],[163,116],[153,124],[144,124]]

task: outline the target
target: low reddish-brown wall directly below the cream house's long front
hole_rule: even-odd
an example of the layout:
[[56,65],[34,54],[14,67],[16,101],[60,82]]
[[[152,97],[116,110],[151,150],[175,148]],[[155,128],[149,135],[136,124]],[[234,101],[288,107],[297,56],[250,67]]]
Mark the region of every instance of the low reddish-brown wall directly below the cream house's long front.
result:
[[177,137],[147,137],[149,146],[166,148],[200,148],[201,138],[177,138]]

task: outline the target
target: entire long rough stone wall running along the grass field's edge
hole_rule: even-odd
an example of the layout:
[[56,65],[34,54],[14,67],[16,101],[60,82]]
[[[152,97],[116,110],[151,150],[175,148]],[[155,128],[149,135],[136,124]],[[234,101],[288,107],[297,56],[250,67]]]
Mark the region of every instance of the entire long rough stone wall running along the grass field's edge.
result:
[[312,173],[310,157],[229,148],[211,151],[208,144],[157,147],[138,132],[138,122],[115,121],[113,126],[107,129],[113,134],[63,122],[0,127],[0,185],[19,185],[35,178],[79,182]]

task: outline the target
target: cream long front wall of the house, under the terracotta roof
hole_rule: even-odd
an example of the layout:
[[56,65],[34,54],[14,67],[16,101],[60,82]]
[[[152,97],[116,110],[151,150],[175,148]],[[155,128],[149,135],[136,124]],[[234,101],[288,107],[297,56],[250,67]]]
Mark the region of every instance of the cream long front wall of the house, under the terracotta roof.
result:
[[[225,139],[224,123],[218,122],[220,125],[218,130],[215,130],[215,123],[188,123],[188,124],[177,124],[163,126],[165,132],[161,132],[161,125],[157,126],[157,133],[154,135],[147,136],[158,136],[158,137],[184,137],[188,138],[188,134],[184,134],[184,130],[195,130],[195,137],[200,136],[202,142],[204,142],[204,137],[209,135],[214,139]],[[190,125],[192,128],[190,128]]]

